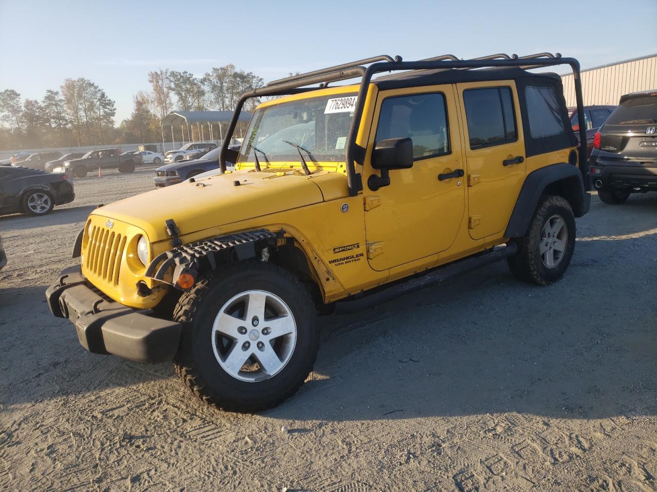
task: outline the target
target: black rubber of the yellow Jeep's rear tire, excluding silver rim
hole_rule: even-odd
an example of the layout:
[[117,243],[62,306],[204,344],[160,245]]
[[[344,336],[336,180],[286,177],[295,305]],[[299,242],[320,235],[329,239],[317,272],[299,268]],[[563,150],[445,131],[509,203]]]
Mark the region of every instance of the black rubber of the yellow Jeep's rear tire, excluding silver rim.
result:
[[[547,268],[541,260],[539,249],[541,231],[547,220],[554,215],[564,219],[568,238],[560,262],[554,268]],[[518,245],[518,251],[507,258],[511,273],[519,280],[537,285],[549,285],[557,281],[570,264],[575,249],[575,237],[575,216],[570,203],[564,197],[543,195],[525,236],[512,239]]]

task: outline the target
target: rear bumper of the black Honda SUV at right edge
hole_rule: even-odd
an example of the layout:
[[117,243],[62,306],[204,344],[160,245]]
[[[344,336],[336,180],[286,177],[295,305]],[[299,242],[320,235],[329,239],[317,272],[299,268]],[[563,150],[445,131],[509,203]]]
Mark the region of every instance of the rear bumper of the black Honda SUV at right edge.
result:
[[635,192],[657,191],[657,165],[606,164],[591,159],[589,176],[591,188],[610,186]]

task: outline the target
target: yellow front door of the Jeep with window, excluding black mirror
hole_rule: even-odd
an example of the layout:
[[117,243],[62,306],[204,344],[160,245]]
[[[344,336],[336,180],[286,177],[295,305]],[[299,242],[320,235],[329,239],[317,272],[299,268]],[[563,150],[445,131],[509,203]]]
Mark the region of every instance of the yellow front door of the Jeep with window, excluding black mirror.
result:
[[[365,230],[368,260],[386,270],[449,248],[465,208],[463,177],[445,178],[464,169],[453,85],[395,89],[378,94],[365,171]],[[376,142],[413,140],[411,169],[390,171],[390,186],[369,189]],[[439,179],[439,175],[441,175]]]

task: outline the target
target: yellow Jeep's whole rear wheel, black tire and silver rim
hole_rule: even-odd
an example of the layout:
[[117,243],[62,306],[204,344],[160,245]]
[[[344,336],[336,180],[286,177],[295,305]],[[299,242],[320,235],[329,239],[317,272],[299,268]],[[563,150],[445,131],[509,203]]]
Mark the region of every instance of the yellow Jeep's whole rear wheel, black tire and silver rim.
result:
[[575,249],[575,216],[570,203],[560,196],[541,198],[523,237],[512,239],[518,251],[507,258],[519,280],[548,285],[560,279]]

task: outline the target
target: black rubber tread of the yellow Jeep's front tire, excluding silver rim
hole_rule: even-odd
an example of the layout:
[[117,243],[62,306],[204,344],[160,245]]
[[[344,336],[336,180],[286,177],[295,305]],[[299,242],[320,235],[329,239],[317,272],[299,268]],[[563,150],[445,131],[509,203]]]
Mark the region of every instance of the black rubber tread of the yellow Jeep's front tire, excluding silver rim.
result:
[[[212,348],[212,325],[233,296],[258,289],[286,302],[296,323],[296,344],[279,373],[258,382],[238,380],[219,365]],[[292,274],[268,262],[247,261],[218,268],[183,293],[173,312],[183,324],[173,360],[175,373],[204,403],[217,409],[252,413],[275,407],[297,392],[313,369],[319,331],[313,300]]]

